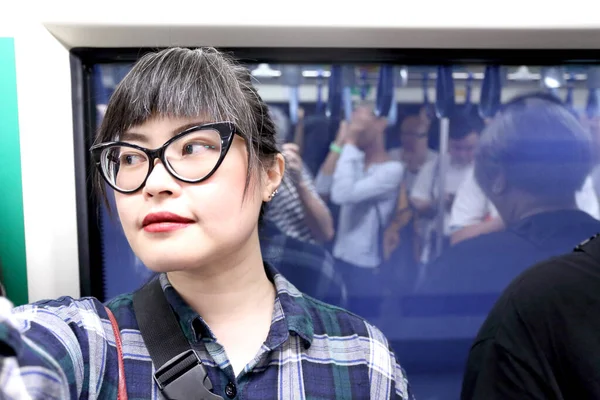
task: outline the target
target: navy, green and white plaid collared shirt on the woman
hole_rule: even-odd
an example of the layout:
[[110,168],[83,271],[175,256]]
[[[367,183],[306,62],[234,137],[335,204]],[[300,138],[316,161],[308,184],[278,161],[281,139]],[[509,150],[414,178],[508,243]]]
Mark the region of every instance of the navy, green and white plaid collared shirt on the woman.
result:
[[[359,317],[302,295],[267,268],[277,297],[271,329],[236,378],[209,327],[160,280],[181,329],[228,399],[409,399],[409,385],[383,334]],[[0,299],[4,300],[4,299]],[[109,303],[121,331],[129,399],[159,399],[132,295]],[[59,298],[13,309],[0,303],[0,398],[116,399],[117,351],[104,306]],[[15,356],[16,355],[16,356]],[[232,390],[227,391],[232,394]]]

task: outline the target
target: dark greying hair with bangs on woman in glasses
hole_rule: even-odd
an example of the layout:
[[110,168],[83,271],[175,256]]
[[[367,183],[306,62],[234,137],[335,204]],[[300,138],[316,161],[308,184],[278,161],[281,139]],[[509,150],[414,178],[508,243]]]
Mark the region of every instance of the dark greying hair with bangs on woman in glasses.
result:
[[[275,126],[248,69],[214,48],[169,48],[144,55],[111,96],[95,144],[117,140],[131,127],[157,116],[231,121],[246,141],[248,176],[279,152]],[[95,187],[110,210],[97,169]],[[261,219],[265,204],[261,208]]]

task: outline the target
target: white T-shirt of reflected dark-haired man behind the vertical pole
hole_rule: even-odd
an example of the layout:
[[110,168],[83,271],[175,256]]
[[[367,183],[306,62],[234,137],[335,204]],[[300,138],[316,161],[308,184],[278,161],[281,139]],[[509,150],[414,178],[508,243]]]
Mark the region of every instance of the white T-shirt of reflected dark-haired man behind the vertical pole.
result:
[[[434,202],[439,199],[438,176],[439,162],[437,160],[427,162],[419,171],[417,179],[410,192],[410,197],[417,200]],[[447,194],[456,195],[458,188],[463,181],[472,174],[473,165],[459,166],[452,163],[446,168],[446,187]],[[446,212],[444,223],[444,233],[450,234],[450,213]],[[435,224],[435,222],[433,222]]]

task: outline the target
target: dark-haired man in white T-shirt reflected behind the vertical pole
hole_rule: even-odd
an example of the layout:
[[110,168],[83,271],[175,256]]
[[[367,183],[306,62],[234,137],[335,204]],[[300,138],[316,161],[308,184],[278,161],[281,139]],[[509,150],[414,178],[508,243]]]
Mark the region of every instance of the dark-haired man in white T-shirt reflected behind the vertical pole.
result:
[[439,193],[439,173],[440,161],[430,161],[421,169],[410,193],[410,200],[413,207],[419,215],[425,219],[422,224],[421,238],[423,241],[422,262],[427,262],[430,258],[432,240],[435,234],[435,218],[440,212],[444,213],[444,237],[450,235],[450,209],[454,201],[456,192],[465,178],[473,171],[473,161],[475,151],[479,142],[479,134],[482,130],[481,120],[456,115],[450,120],[450,133],[448,141],[448,160],[444,168],[445,172],[445,197],[446,207],[444,210],[438,210]]

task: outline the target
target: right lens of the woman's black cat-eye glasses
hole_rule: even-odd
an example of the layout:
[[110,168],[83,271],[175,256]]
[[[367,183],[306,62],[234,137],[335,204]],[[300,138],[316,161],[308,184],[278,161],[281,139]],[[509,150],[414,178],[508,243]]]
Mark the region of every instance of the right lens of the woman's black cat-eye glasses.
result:
[[219,162],[221,135],[214,129],[190,132],[171,143],[165,155],[171,169],[181,178],[202,179]]

